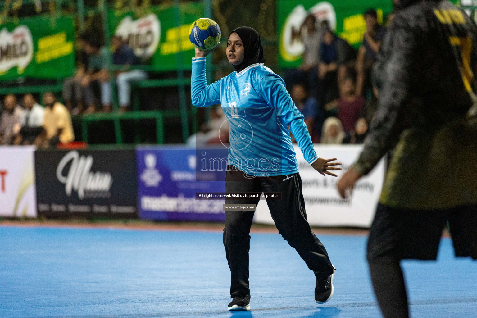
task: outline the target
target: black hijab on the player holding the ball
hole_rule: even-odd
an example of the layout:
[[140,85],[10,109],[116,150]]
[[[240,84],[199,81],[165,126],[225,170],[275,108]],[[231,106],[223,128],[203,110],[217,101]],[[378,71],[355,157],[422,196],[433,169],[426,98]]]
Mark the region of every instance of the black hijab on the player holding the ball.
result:
[[[260,41],[259,32],[249,27],[237,28],[230,32],[230,34],[234,32],[237,33],[240,37],[240,40],[242,40],[243,49],[245,51],[243,62],[241,62],[239,65],[234,65],[235,71],[240,72],[252,64],[265,62],[265,56],[263,56],[263,47]],[[230,37],[230,34],[228,37]]]

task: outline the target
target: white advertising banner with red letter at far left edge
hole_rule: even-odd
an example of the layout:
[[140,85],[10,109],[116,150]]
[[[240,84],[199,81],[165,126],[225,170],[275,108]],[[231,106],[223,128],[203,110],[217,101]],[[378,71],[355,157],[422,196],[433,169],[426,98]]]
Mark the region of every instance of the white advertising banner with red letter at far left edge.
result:
[[0,216],[36,217],[34,146],[0,146]]

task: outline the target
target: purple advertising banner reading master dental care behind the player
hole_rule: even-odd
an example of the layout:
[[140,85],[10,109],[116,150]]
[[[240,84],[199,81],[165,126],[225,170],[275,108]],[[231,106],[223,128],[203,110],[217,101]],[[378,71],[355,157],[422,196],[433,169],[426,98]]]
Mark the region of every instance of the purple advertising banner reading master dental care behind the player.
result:
[[[226,150],[213,151],[227,157]],[[140,218],[225,221],[225,200],[196,200],[196,192],[225,192],[225,174],[217,179],[223,181],[196,181],[196,153],[196,148],[185,146],[136,148]]]

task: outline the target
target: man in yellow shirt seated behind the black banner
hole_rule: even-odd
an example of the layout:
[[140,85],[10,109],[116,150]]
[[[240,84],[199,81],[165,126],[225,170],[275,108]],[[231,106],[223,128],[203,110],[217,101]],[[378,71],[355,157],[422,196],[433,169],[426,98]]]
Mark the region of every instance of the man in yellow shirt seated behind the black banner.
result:
[[74,140],[73,124],[68,109],[62,103],[56,101],[52,92],[43,96],[45,104],[45,139],[43,146],[56,146],[58,143],[66,144]]

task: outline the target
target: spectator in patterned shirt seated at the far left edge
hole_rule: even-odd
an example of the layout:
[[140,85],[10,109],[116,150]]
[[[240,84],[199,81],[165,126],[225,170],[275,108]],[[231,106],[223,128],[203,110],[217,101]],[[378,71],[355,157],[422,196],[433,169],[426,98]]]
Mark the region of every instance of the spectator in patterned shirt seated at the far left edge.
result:
[[20,133],[23,110],[17,104],[13,94],[5,96],[4,109],[0,117],[0,144],[13,144],[13,140]]

